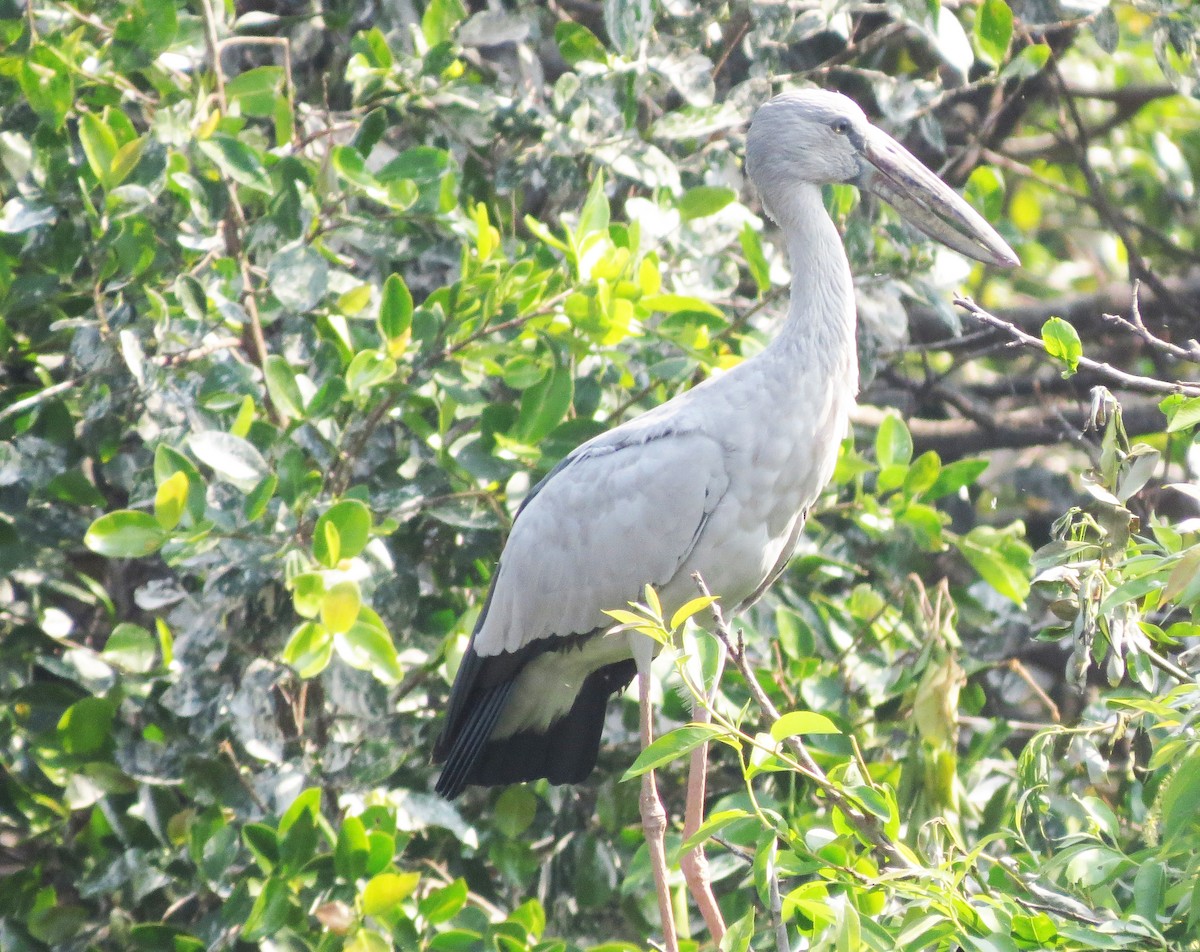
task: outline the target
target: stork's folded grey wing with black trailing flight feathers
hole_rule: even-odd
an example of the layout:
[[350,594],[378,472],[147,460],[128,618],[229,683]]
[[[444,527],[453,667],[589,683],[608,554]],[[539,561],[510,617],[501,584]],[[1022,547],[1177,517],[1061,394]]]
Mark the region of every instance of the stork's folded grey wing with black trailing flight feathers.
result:
[[[662,586],[678,573],[728,487],[719,441],[670,421],[635,424],[566,457],[517,513],[434,749],[434,759],[445,761],[438,782],[445,796],[466,783],[539,776],[563,783],[590,771],[605,701],[629,682],[631,665],[619,655],[623,643],[598,645],[588,636],[611,624],[606,609],[623,607],[647,582]],[[565,666],[570,677],[544,677],[539,665],[550,659],[541,655],[552,652],[560,660],[547,673],[562,675]],[[538,673],[536,695],[510,699],[527,666]],[[523,735],[522,764],[509,765],[521,776],[496,766],[511,761],[512,752],[492,736],[514,705],[536,708],[500,731]],[[530,718],[541,723],[530,725]],[[547,731],[556,722],[565,730]],[[493,766],[481,772],[479,764]]]

